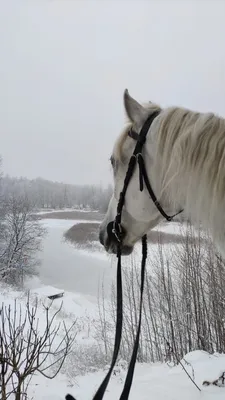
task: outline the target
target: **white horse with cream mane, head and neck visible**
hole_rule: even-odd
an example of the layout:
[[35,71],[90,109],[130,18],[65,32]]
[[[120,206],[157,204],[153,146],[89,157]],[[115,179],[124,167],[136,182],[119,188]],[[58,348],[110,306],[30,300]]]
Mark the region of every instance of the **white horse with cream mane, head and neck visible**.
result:
[[[225,257],[225,119],[213,113],[200,113],[181,107],[161,109],[156,104],[139,104],[124,92],[129,123],[118,137],[111,156],[114,193],[100,225],[99,239],[109,253],[117,249],[116,239],[107,234],[108,223],[115,219],[120,192],[136,141],[128,136],[139,133],[155,111],[143,147],[149,181],[167,214],[179,209],[196,226],[210,232]],[[139,190],[139,171],[135,171],[125,196],[121,225],[126,235],[122,254],[130,254],[135,243],[163,217],[146,187]]]

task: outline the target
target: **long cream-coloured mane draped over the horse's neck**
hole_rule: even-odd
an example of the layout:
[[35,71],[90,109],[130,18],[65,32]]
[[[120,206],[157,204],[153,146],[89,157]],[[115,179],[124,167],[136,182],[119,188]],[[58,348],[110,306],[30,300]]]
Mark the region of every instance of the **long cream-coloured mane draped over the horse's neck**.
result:
[[182,203],[195,221],[204,221],[217,236],[225,201],[225,119],[167,108],[155,137],[161,196],[166,192],[174,206]]

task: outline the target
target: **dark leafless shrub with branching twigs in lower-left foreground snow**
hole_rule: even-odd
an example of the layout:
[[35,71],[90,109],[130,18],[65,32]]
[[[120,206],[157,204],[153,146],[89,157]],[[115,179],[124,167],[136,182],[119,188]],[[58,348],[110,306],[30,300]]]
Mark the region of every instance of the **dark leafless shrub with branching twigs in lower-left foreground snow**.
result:
[[[61,305],[62,307],[62,305]],[[30,305],[28,295],[25,310],[18,307],[0,308],[0,395],[2,400],[15,395],[26,399],[27,387],[34,373],[53,379],[61,370],[74,342],[76,321],[67,329],[56,323],[61,307],[50,316],[45,308],[45,325],[39,324],[37,300]],[[61,331],[63,325],[63,331]],[[60,339],[59,339],[60,338]]]

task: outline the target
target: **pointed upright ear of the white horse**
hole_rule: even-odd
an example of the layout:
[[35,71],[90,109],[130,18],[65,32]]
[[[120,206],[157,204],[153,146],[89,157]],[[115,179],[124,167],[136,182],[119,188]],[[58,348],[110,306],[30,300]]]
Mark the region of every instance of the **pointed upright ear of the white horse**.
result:
[[134,124],[142,124],[146,118],[146,109],[130,96],[127,89],[123,95],[126,114]]

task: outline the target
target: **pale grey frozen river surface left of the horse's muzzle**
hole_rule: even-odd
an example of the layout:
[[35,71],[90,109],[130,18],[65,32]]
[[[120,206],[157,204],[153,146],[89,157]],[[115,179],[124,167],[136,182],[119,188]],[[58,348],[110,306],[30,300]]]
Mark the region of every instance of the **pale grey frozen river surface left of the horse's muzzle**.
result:
[[[42,223],[48,230],[41,253],[40,281],[65,291],[97,296],[98,286],[104,279],[109,293],[116,275],[116,260],[103,253],[77,250],[65,242],[63,233],[77,222],[62,219],[46,219]],[[93,221],[92,221],[93,222]]]

